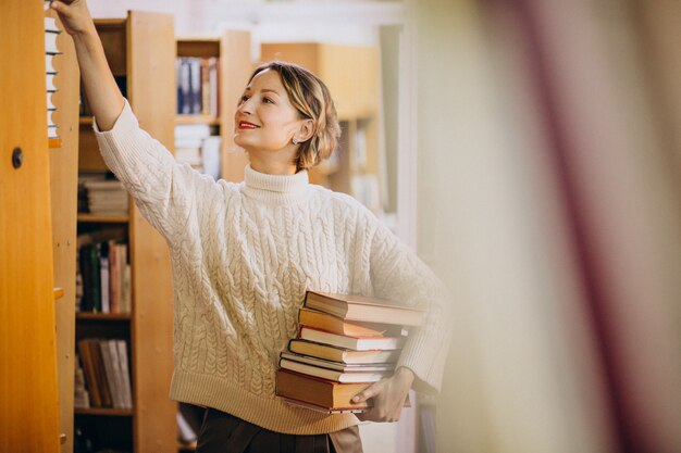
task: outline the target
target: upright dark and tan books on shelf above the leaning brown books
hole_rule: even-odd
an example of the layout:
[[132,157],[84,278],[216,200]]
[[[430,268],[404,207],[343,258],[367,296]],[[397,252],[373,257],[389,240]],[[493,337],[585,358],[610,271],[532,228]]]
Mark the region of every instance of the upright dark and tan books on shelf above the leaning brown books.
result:
[[131,313],[131,265],[127,243],[78,237],[76,310],[95,313]]

